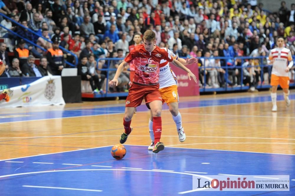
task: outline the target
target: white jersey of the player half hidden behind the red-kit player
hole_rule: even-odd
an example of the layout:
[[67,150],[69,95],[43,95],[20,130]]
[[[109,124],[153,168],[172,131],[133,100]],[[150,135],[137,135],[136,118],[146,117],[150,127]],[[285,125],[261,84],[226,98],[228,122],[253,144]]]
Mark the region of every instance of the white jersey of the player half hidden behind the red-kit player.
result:
[[[178,57],[169,49],[165,48],[170,54],[170,56],[173,59],[178,59]],[[165,87],[170,87],[172,85],[177,85],[177,78],[174,72],[172,71],[169,62],[162,59],[160,61],[160,78],[159,78],[159,84],[160,84],[160,89],[165,88]]]

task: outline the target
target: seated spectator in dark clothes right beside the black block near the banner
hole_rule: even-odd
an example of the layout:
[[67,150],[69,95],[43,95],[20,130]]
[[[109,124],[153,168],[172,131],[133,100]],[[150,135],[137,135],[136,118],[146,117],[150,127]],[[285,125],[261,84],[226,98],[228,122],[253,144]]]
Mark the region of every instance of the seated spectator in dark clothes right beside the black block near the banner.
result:
[[91,76],[87,61],[87,56],[81,56],[81,62],[78,64],[78,75],[81,76],[81,80],[89,81],[93,93],[97,93],[95,89],[99,86],[99,78],[95,74]]

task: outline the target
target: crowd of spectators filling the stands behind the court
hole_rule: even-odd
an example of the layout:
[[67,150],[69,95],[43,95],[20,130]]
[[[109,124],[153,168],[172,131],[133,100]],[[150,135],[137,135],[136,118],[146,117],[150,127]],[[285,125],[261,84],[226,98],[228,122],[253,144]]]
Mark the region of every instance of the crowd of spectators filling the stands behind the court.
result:
[[[69,67],[65,61],[75,62],[73,55],[58,49],[62,46],[78,56],[78,74],[89,80],[96,92],[106,77],[106,72],[97,68],[106,68],[108,63],[116,68],[120,63],[101,60],[96,67],[97,59],[125,57],[135,44],[134,35],[147,29],[155,32],[158,46],[180,57],[228,57],[199,60],[200,84],[206,82],[207,87],[227,83],[255,88],[265,82],[258,65],[268,64],[268,53],[276,47],[278,36],[284,37],[292,55],[295,51],[295,4],[288,8],[284,1],[271,13],[256,0],[0,0],[0,12],[22,24],[0,16],[2,26],[22,36],[0,28],[1,37],[8,39],[0,44],[0,58],[7,66],[1,77],[60,75]],[[13,52],[11,59],[8,54]],[[243,56],[265,59],[234,59]],[[39,66],[35,58],[40,58]],[[228,76],[221,68],[225,65],[229,66]],[[263,68],[268,74],[270,70]],[[112,77],[114,71],[109,73],[109,79]],[[126,90],[127,70],[119,82],[114,91]]]

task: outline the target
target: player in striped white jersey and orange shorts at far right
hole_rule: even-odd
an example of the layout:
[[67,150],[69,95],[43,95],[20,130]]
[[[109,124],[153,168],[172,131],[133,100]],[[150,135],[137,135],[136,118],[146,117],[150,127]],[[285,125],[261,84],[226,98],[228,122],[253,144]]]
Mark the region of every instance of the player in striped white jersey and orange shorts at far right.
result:
[[283,37],[278,37],[276,44],[277,47],[272,49],[269,53],[269,60],[271,60],[271,64],[273,64],[273,69],[271,71],[271,101],[273,103],[271,111],[273,112],[276,112],[278,109],[276,105],[278,84],[280,84],[283,89],[286,106],[290,106],[290,100],[288,97],[290,94],[289,71],[294,65],[291,51],[284,47]]

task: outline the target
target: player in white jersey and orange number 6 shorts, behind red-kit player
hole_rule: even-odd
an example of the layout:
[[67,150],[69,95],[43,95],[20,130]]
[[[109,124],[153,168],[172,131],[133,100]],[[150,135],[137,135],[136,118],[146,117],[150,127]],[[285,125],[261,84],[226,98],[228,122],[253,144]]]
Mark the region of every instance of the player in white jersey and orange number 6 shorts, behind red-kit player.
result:
[[[181,59],[178,58],[171,50],[166,49],[168,51],[168,54],[173,59],[178,60],[181,62],[183,65],[189,65],[193,63],[198,63],[198,59],[196,58],[187,58]],[[172,63],[173,64],[173,63]],[[177,65],[176,65],[177,66]],[[193,76],[194,81],[197,83],[196,76],[191,73],[191,71],[186,68],[186,71],[189,74],[189,79],[190,75]],[[163,104],[164,102],[167,103],[169,107],[169,111],[172,114],[173,121],[176,124],[176,130],[178,132],[178,138],[180,142],[184,142],[186,139],[186,134],[184,133],[184,129],[182,127],[182,121],[181,121],[181,114],[178,111],[178,91],[177,91],[177,78],[174,72],[172,71],[169,62],[166,60],[161,60],[160,62],[160,80],[159,80],[159,91],[161,94],[161,97],[163,99]],[[149,120],[149,130],[150,130],[150,139],[151,139],[151,144],[148,147],[148,150],[153,150],[154,147],[154,133],[153,133],[153,113],[150,113],[150,120]]]

